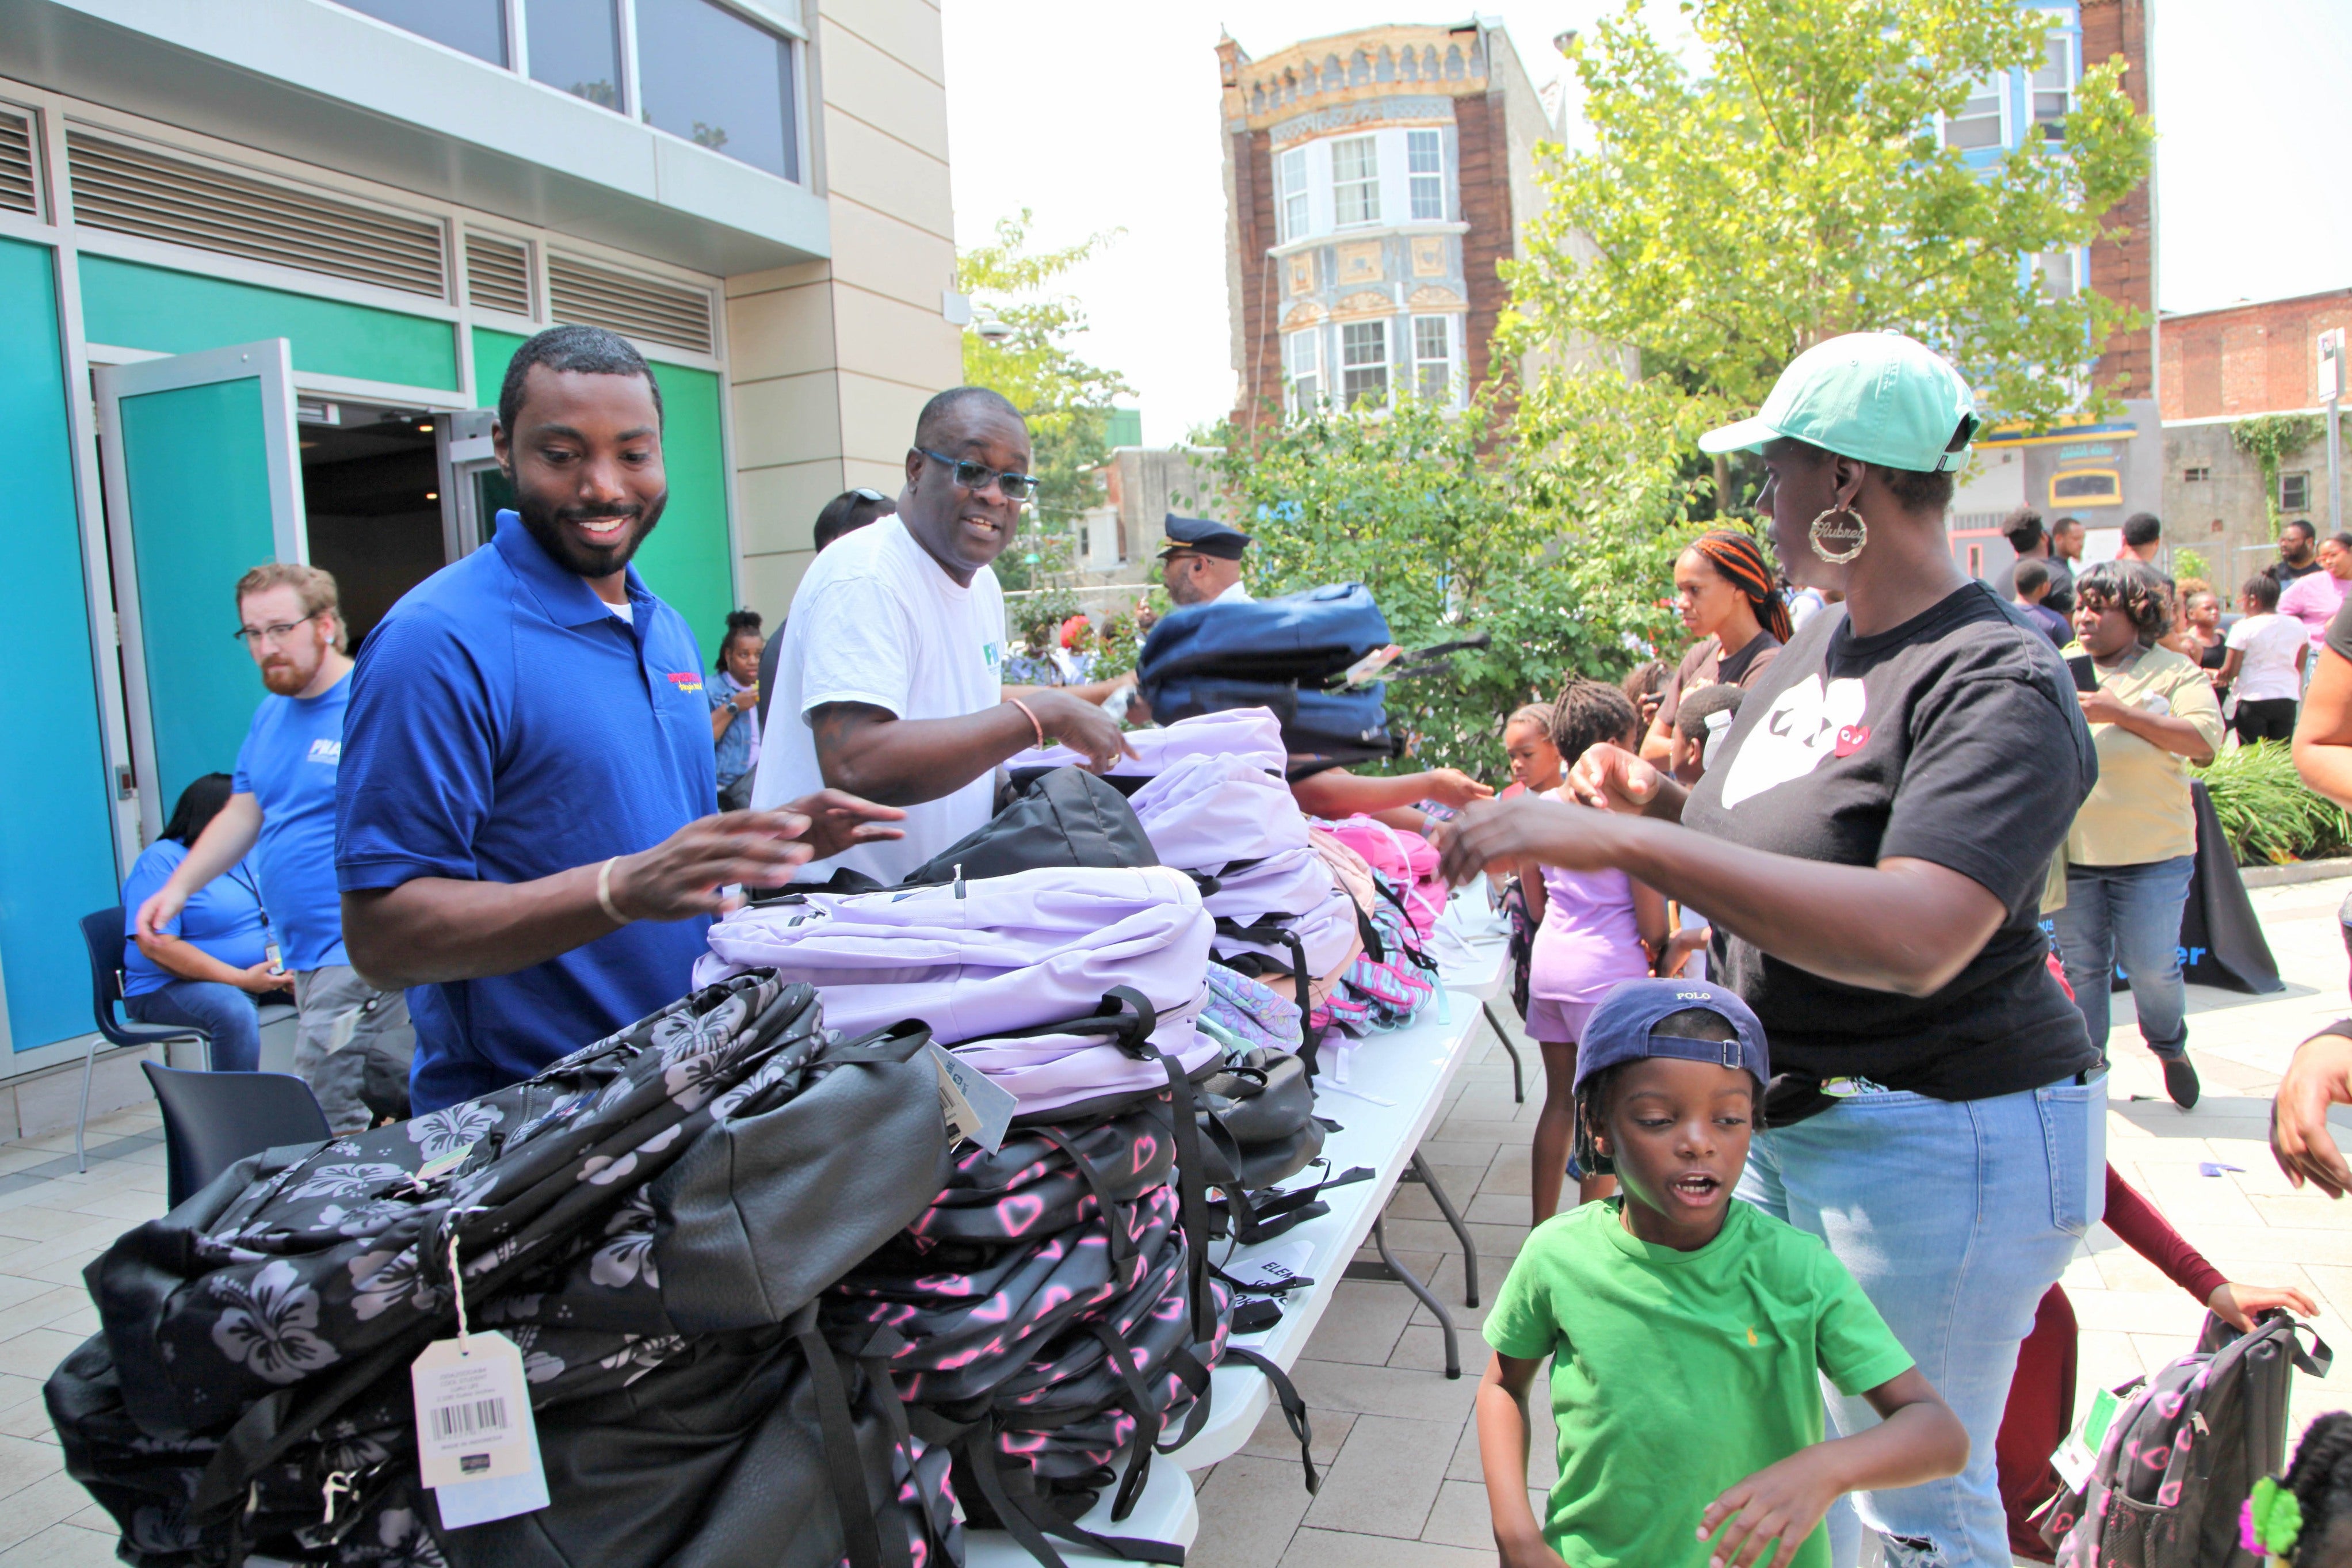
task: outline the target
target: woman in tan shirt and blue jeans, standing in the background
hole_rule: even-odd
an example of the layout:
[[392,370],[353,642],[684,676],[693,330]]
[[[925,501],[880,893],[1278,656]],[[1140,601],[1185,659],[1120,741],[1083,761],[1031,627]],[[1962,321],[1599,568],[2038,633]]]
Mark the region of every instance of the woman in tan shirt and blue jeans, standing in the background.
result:
[[2143,562],[2100,562],[2074,583],[2074,644],[2098,691],[2082,717],[2098,745],[2098,785],[2065,842],[2065,907],[2058,957],[2091,1044],[2107,1046],[2114,966],[2131,980],[2140,1039],[2164,1065],[2164,1088],[2197,1105],[2190,1025],[2180,985],[2180,907],[2197,865],[2190,762],[2213,762],[2220,705],[2213,684],[2180,654],[2157,646],[2171,628],[2171,583]]

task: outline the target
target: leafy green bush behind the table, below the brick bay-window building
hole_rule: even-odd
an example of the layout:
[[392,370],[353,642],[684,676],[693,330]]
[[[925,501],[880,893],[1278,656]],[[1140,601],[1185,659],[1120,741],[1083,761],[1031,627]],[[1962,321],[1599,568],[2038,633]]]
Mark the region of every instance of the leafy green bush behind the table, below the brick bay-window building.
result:
[[[1550,701],[1569,675],[1613,677],[1672,628],[1661,604],[1675,536],[1649,529],[1613,550],[1564,541],[1543,489],[1496,444],[1494,414],[1418,402],[1324,409],[1291,425],[1221,433],[1216,473],[1256,545],[1251,590],[1364,583],[1406,649],[1486,632],[1446,672],[1390,682],[1402,766],[1501,778],[1503,717]],[[1679,484],[1672,458],[1658,484]]]

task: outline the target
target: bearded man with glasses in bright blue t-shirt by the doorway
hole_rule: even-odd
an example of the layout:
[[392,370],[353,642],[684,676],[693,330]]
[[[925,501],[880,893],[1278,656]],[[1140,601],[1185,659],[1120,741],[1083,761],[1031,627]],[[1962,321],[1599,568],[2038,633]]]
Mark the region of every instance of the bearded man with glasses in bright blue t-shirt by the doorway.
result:
[[296,562],[254,567],[238,578],[238,639],[270,696],[238,748],[235,792],[169,882],[139,905],[136,931],[153,940],[198,889],[259,849],[273,959],[294,978],[294,1072],[310,1084],[327,1126],[350,1133],[379,1114],[407,1114],[416,1037],[400,992],[372,987],[343,952],[334,776],[350,658],[334,576]]

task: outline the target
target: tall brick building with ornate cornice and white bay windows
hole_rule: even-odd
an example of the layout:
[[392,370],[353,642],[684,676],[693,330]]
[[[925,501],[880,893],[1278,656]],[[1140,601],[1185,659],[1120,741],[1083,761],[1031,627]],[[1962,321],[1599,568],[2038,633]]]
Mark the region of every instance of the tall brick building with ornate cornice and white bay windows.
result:
[[1559,127],[1486,21],[1216,47],[1235,418],[1397,390],[1461,404]]

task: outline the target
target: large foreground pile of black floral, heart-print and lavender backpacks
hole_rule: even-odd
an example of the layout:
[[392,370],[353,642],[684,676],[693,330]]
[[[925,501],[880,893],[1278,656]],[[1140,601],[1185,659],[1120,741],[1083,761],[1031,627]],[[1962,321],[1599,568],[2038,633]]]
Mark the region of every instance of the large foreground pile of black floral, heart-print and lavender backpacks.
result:
[[[1312,1488],[1303,1401],[1230,1342],[1279,1302],[1237,1319],[1211,1251],[1369,1178],[1329,1173],[1310,1074],[1428,999],[1416,867],[1298,813],[1275,712],[1131,741],[908,884],[720,919],[691,994],[527,1084],[127,1232],[47,1385],[122,1556],[931,1568],[971,1521],[1047,1568],[1181,1561],[1077,1519],[1131,1514],[1221,1361],[1272,1380]],[[1000,1121],[950,1150],[955,1074]],[[506,1516],[419,1472],[409,1368],[485,1333],[548,1490]]]

